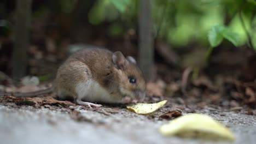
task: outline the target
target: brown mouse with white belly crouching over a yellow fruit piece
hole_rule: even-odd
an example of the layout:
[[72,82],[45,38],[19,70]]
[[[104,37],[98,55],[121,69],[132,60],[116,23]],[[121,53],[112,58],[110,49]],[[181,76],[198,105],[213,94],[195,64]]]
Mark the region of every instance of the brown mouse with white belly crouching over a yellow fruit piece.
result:
[[132,57],[119,51],[84,49],[71,55],[57,70],[54,87],[60,99],[77,104],[136,103],[145,96],[146,82]]

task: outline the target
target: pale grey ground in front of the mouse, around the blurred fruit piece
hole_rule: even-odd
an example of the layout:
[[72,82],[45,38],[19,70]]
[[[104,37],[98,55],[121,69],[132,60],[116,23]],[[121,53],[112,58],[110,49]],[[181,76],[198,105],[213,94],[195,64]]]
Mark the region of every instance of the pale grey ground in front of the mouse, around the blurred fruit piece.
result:
[[[180,110],[176,106],[165,106],[144,116],[137,115],[124,106],[103,105],[99,109],[88,109],[61,105],[37,107],[2,103],[1,143],[216,143],[162,136],[158,128],[169,120],[160,119],[159,116],[172,110],[182,112],[183,115],[191,111]],[[255,115],[210,106],[193,112],[210,115],[229,127],[236,136],[234,143],[256,141]]]

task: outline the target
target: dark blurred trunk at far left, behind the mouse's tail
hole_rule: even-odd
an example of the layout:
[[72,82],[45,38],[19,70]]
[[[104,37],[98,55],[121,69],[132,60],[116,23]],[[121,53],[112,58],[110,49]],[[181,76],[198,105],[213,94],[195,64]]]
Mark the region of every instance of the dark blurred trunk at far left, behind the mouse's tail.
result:
[[12,74],[15,79],[26,74],[30,19],[31,0],[16,0],[15,41],[12,56]]

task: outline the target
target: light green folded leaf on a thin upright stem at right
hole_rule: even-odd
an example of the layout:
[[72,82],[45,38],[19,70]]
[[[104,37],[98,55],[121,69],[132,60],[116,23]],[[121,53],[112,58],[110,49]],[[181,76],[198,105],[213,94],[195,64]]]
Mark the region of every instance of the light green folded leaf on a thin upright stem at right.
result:
[[239,43],[239,35],[222,25],[213,26],[208,33],[208,40],[212,47],[218,46],[222,43],[224,38],[229,40],[235,46]]

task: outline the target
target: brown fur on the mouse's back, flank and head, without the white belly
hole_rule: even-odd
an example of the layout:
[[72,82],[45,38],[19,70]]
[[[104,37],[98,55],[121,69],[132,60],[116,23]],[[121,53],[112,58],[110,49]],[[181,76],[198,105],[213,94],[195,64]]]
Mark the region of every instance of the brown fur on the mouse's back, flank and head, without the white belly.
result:
[[[146,83],[137,65],[125,59],[125,68],[119,69],[112,58],[113,53],[106,49],[85,49],[74,53],[57,71],[54,83],[56,90],[65,90],[77,98],[75,86],[79,82],[93,79],[113,97],[124,97],[120,87],[132,93],[144,92]],[[120,59],[118,56],[118,62]],[[130,83],[129,77],[135,78],[136,83]]]

